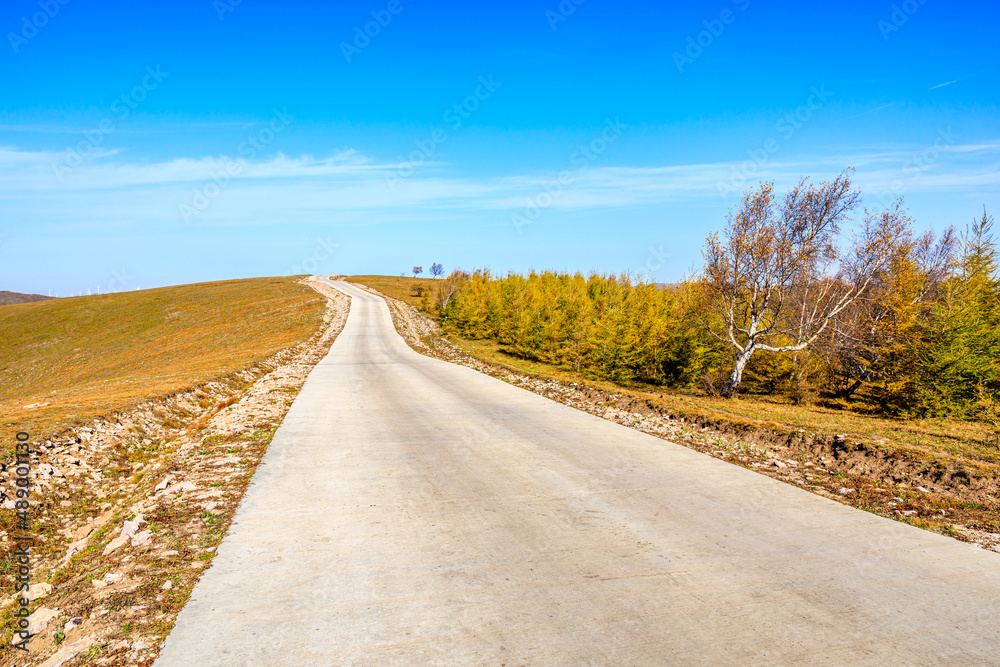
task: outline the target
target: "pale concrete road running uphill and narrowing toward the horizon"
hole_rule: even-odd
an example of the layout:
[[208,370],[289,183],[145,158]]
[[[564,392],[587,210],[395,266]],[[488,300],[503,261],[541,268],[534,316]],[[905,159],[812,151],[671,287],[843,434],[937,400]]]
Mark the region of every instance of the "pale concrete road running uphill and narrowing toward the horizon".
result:
[[1000,664],[1000,555],[423,357],[333,284],[160,667]]

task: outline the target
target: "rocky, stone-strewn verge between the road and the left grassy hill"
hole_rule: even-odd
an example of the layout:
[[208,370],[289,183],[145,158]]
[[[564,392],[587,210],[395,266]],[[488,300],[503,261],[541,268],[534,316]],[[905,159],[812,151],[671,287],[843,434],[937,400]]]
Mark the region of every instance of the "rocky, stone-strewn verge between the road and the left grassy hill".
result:
[[[308,342],[35,443],[29,531],[15,529],[14,462],[0,463],[10,593],[0,599],[0,665],[152,664],[293,398],[347,319],[348,297],[309,284],[329,303]],[[28,653],[13,645],[14,554],[25,545]]]

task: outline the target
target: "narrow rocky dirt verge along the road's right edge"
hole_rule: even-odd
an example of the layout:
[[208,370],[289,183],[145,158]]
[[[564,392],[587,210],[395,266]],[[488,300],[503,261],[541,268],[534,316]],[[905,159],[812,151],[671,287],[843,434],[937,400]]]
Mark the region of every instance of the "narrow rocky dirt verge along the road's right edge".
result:
[[469,366],[837,502],[1000,552],[1000,480],[995,473],[983,474],[961,462],[910,456],[846,434],[807,433],[780,425],[700,423],[624,389],[609,392],[586,382],[516,372],[470,356],[443,338],[437,324],[413,306],[392,298],[386,301],[397,331],[423,354]]

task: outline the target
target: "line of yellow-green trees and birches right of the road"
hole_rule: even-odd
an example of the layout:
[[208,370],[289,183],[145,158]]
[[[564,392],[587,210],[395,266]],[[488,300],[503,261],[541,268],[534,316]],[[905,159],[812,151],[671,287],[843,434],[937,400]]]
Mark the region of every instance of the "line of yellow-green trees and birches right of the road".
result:
[[675,284],[456,271],[432,309],[446,331],[591,378],[995,422],[992,217],[918,235],[899,200],[855,220],[852,175],[748,191],[706,240],[700,274]]

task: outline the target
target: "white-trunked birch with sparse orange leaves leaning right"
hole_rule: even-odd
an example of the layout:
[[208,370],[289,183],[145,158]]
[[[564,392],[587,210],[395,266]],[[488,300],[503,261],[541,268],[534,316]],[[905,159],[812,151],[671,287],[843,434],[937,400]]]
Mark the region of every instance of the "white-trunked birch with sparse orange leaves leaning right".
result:
[[806,349],[831,320],[868,289],[909,230],[902,202],[865,212],[852,246],[840,248],[841,225],[861,199],[851,170],[811,185],[803,178],[779,201],[773,183],[748,191],[722,233],[708,237],[704,290],[721,327],[711,333],[736,351],[723,396],[732,396],[759,351]]

